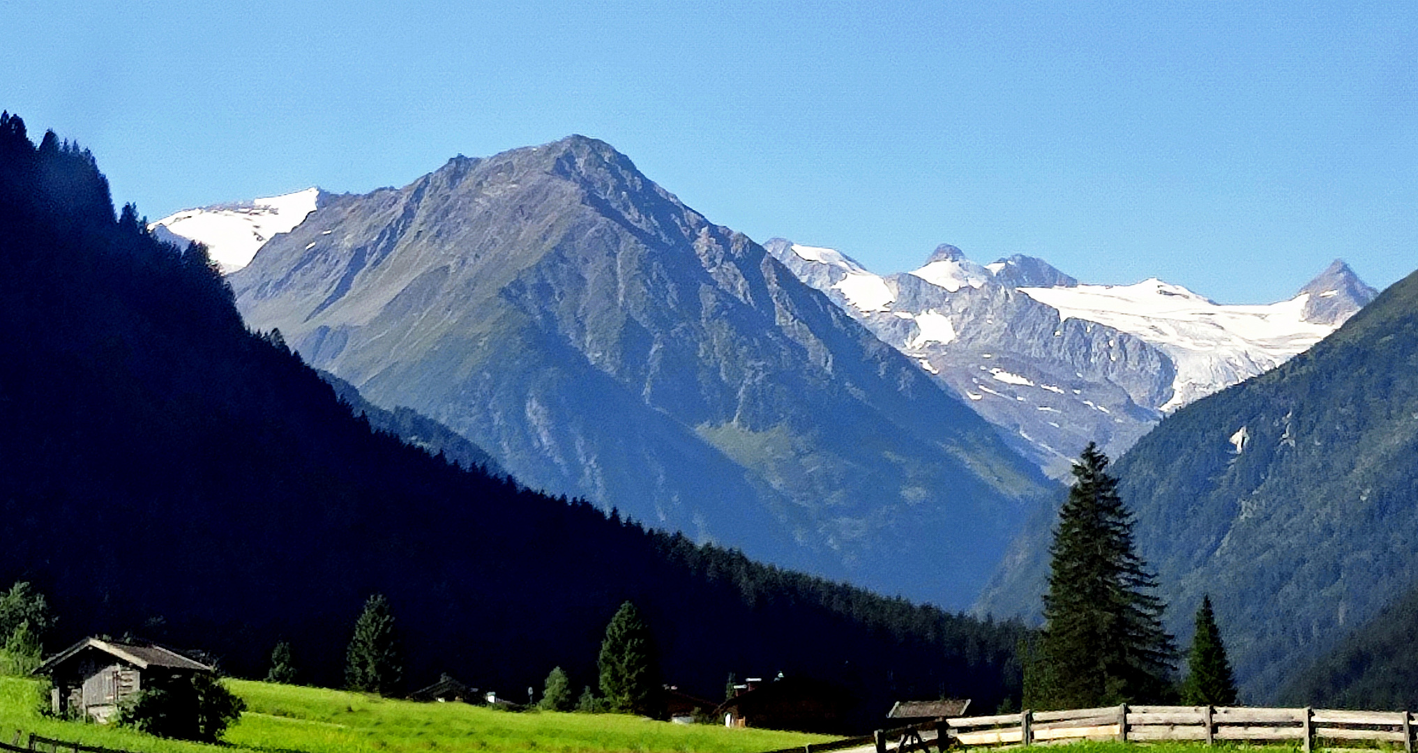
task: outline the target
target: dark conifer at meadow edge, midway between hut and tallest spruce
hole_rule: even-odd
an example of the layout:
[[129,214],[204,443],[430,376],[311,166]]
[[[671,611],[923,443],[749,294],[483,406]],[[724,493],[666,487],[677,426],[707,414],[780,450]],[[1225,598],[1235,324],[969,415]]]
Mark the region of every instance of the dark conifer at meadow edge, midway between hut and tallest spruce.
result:
[[617,713],[655,715],[659,696],[659,657],[649,625],[630,601],[605,625],[605,640],[597,659],[601,671],[601,696]]

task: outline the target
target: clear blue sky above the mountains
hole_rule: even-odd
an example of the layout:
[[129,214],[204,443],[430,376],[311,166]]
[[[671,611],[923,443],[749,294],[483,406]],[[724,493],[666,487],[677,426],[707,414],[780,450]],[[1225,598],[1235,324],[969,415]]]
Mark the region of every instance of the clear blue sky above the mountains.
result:
[[[889,7],[881,7],[889,6]],[[176,208],[605,139],[712,221],[1288,298],[1418,268],[1418,3],[0,0],[0,108]]]

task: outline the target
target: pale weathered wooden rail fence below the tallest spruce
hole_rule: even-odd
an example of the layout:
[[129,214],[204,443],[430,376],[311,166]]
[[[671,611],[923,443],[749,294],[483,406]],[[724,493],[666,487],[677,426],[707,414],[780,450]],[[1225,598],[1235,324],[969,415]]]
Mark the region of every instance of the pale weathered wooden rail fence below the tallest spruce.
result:
[[[1314,750],[1317,743],[1401,743],[1414,753],[1409,712],[1330,709],[1261,709],[1217,706],[1105,706],[1059,712],[961,716],[929,725],[878,730],[878,753],[936,747],[1048,744],[1072,740],[1217,740],[1289,742]],[[933,739],[930,732],[936,732]]]

